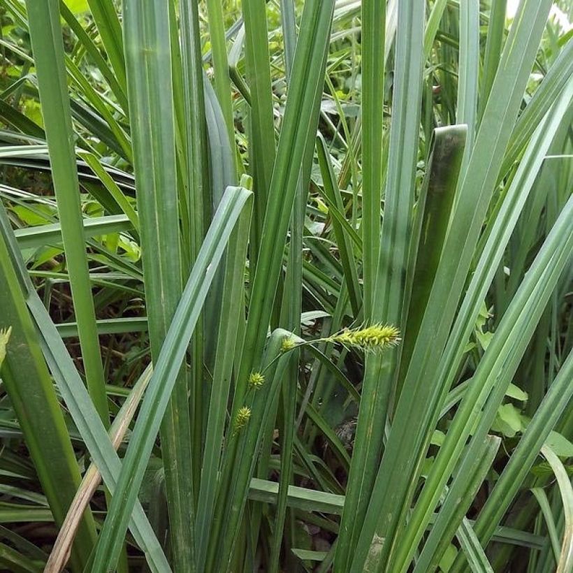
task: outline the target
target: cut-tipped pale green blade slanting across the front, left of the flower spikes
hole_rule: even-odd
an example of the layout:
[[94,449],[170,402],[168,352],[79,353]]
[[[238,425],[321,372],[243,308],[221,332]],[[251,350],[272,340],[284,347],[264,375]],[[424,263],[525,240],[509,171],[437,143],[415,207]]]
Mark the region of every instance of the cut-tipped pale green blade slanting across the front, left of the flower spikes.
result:
[[[117,489],[97,545],[92,569],[94,573],[104,573],[115,567],[129,515],[137,500],[154,440],[175,386],[177,372],[187,352],[217,264],[249,196],[249,191],[240,187],[227,189],[191,270],[161,352],[154,362],[152,381],[133,428]],[[187,543],[192,541],[186,539]]]

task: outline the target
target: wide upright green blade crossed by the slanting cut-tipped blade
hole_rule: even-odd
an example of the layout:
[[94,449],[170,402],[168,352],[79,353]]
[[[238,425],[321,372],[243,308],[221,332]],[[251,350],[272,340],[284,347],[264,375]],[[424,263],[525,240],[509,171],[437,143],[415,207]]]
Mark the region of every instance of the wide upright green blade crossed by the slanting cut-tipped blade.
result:
[[[168,6],[124,1],[124,43],[147,321],[157,364],[182,293],[183,272]],[[199,216],[202,219],[201,212]],[[190,479],[194,457],[188,391],[187,375],[181,371],[161,426],[176,571],[193,570],[195,559],[196,484]]]

